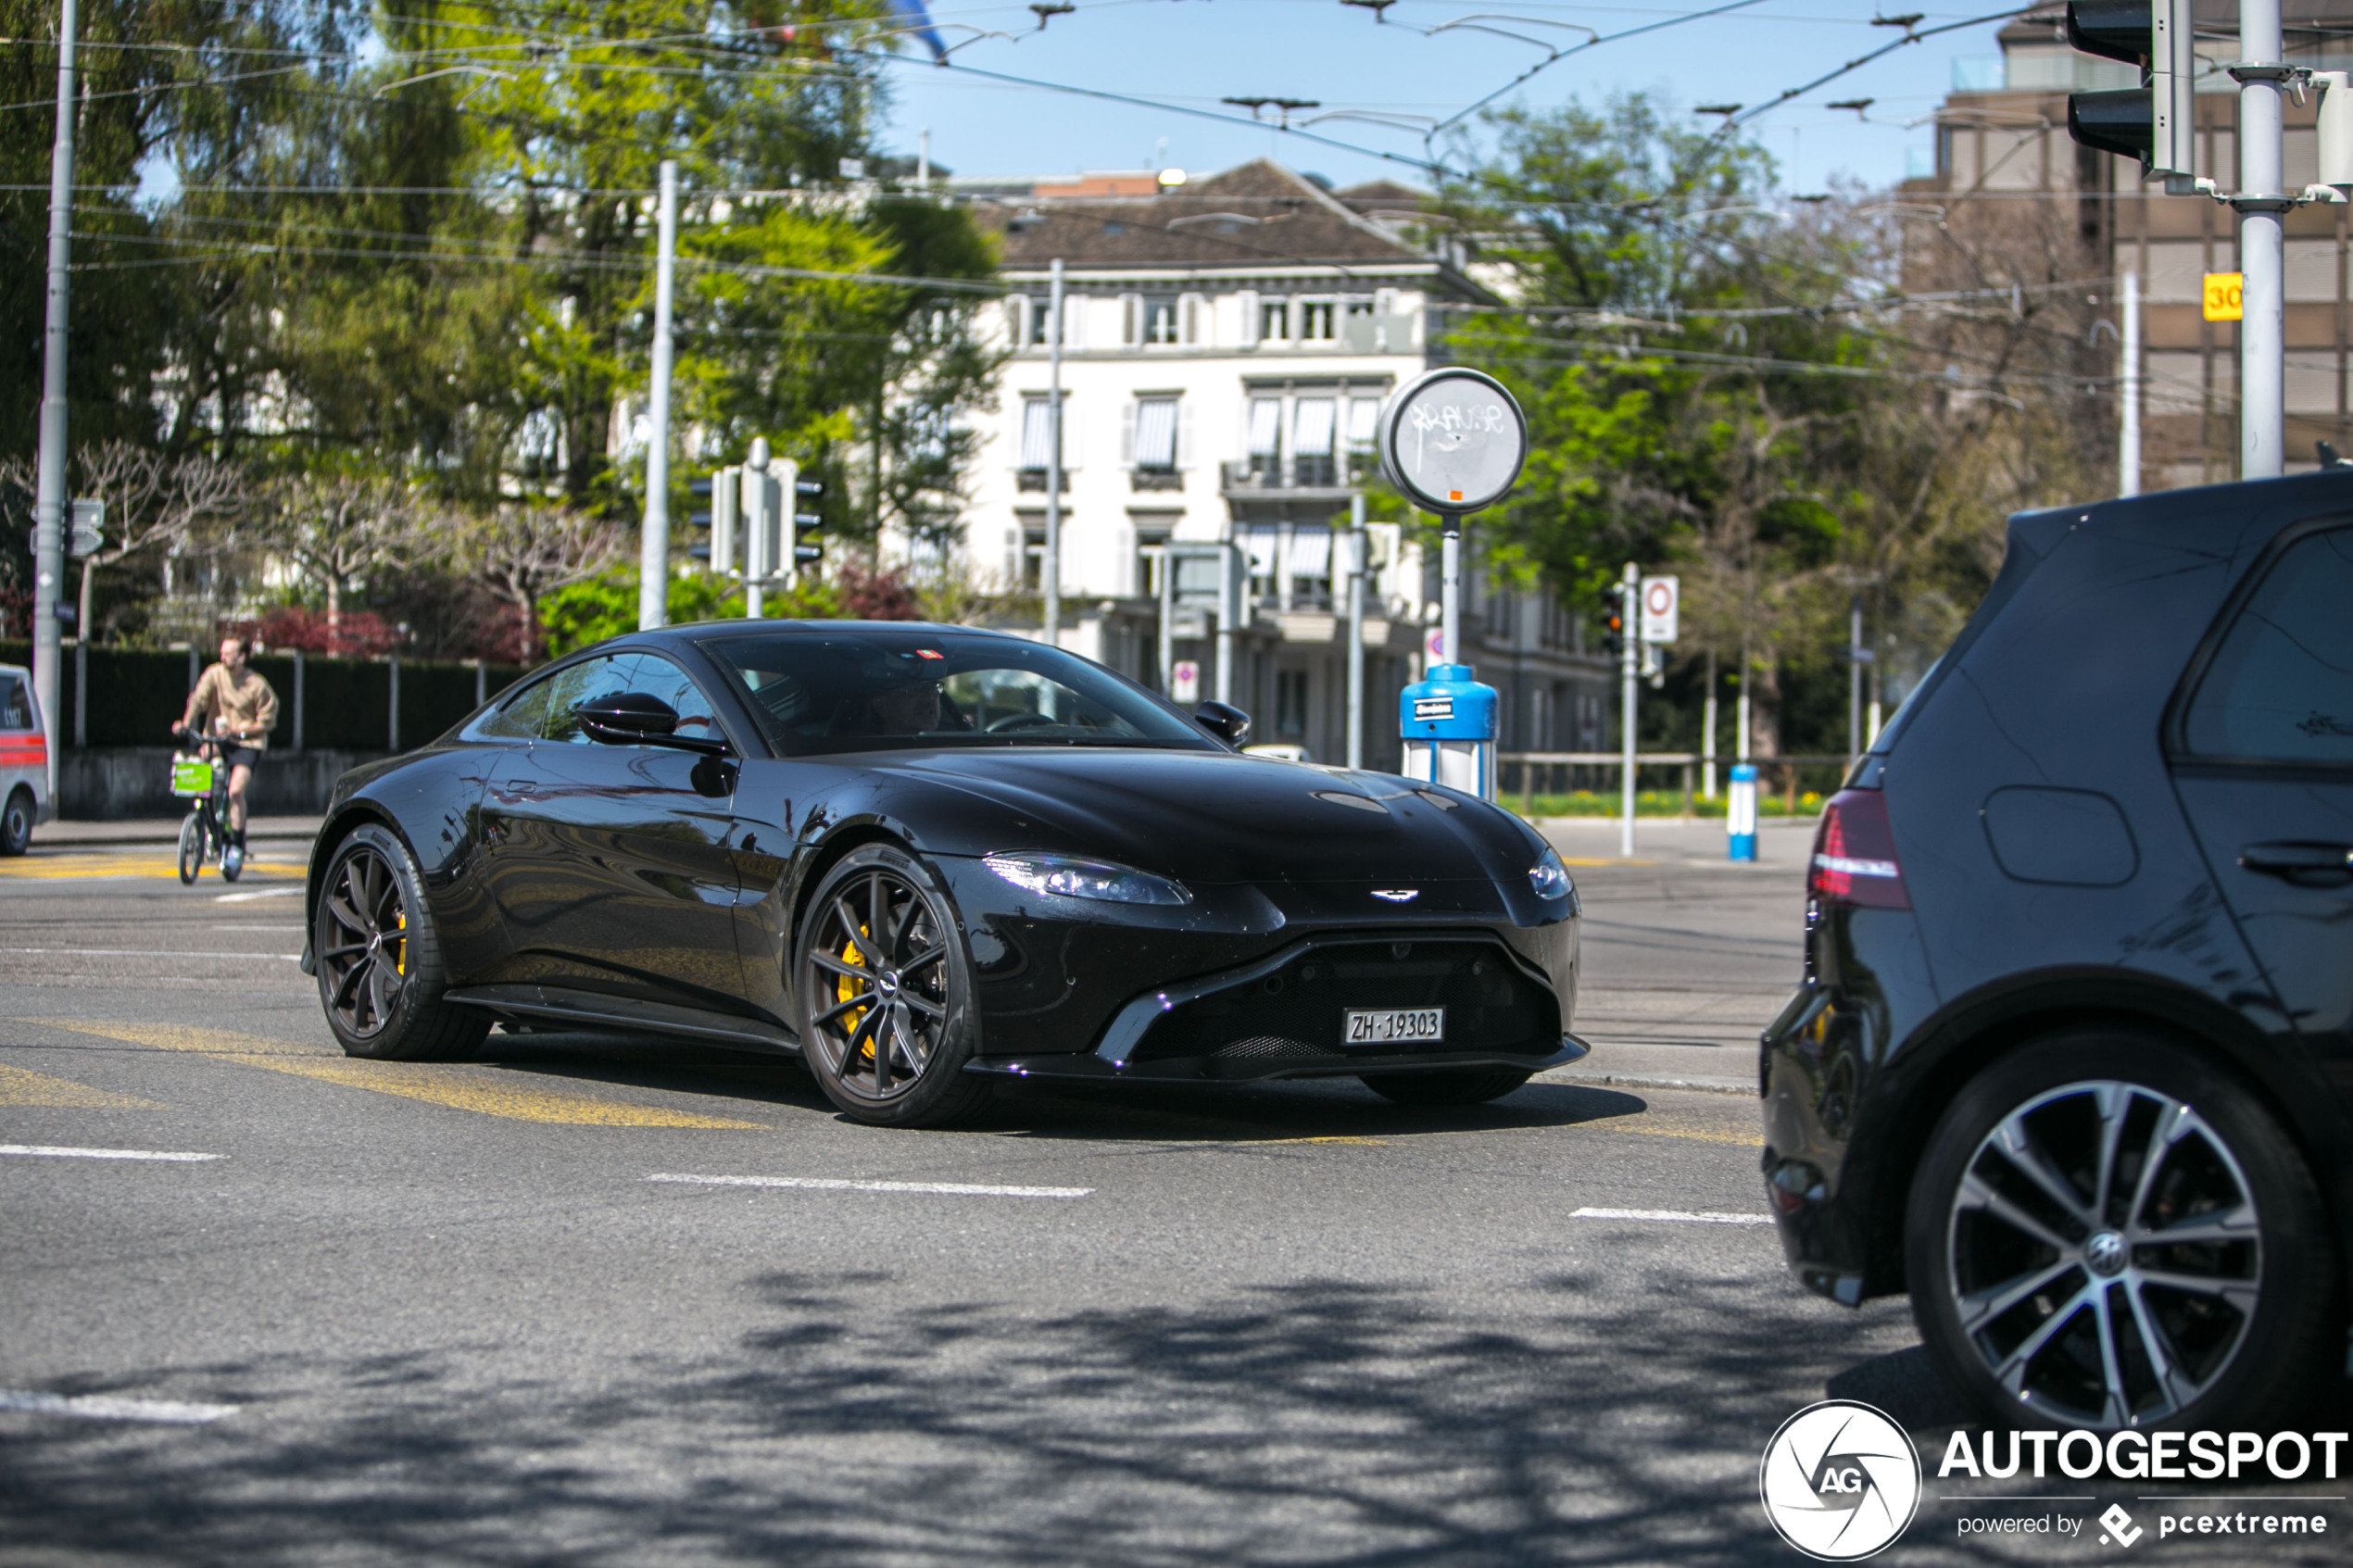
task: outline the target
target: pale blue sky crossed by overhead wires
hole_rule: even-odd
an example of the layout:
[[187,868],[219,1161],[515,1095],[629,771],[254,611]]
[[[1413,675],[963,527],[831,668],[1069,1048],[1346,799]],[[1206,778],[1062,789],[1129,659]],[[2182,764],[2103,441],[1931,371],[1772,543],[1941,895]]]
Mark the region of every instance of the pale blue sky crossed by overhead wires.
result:
[[[1722,0],[1718,0],[1722,2]],[[1913,0],[1918,5],[1918,0]],[[1515,0],[1398,0],[1386,24],[1341,0],[1073,0],[1075,9],[1038,28],[1024,0],[936,0],[932,21],[955,47],[946,68],[927,54],[887,68],[892,108],[882,143],[915,150],[932,132],[932,158],[955,174],[1068,174],[1078,169],[1224,169],[1278,158],[1339,183],[1414,169],[1367,153],[1315,146],[1273,129],[1214,125],[1165,108],[1104,103],[1040,87],[991,82],[974,71],[1247,115],[1219,99],[1315,99],[1320,110],[1447,118],[1546,59],[1541,47],[1497,38],[1478,19],[1527,38],[1574,45],[1586,28],[1621,33],[1689,16],[1694,5],[1520,5]],[[1504,99],[1553,108],[1640,89],[1675,106],[1762,103],[1833,66],[1868,54],[1901,31],[1871,26],[1871,0],[1760,0],[1753,7],[1685,21],[1642,38],[1602,42],[1562,59]],[[1887,7],[1901,14],[1904,5]],[[1922,28],[1995,9],[1927,12]],[[1558,26],[1544,26],[1558,24]],[[1781,165],[1784,188],[1824,190],[1831,179],[1887,186],[1906,174],[1906,150],[1929,146],[1929,115],[1953,80],[1955,56],[1995,54],[2000,24],[1927,38],[1751,122]],[[988,38],[1009,33],[1012,38]],[[1878,99],[1871,122],[1824,108],[1828,99]],[[1713,120],[1701,120],[1715,125]],[[1388,153],[1419,155],[1419,129],[1325,120],[1318,134]]]

